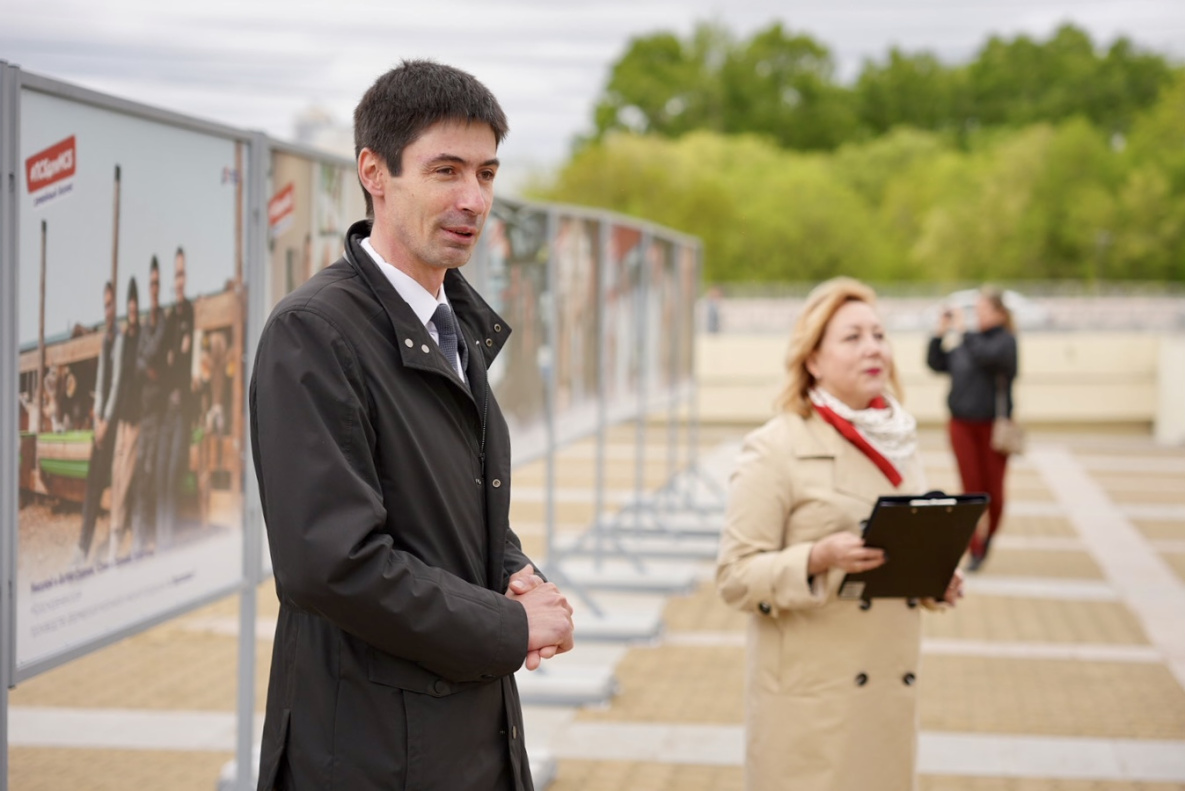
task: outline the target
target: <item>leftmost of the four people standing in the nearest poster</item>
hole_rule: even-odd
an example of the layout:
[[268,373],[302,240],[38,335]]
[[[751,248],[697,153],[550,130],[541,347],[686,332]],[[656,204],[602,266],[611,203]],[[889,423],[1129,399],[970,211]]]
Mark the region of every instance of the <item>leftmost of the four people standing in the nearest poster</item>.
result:
[[95,539],[95,521],[98,519],[98,506],[103,499],[103,489],[111,482],[111,456],[115,451],[115,432],[109,431],[115,414],[115,342],[120,334],[115,327],[115,287],[108,281],[103,284],[103,341],[98,349],[98,374],[95,377],[95,435],[90,449],[90,463],[87,465],[87,493],[82,502],[82,533],[71,567],[79,568],[87,564],[90,545]]

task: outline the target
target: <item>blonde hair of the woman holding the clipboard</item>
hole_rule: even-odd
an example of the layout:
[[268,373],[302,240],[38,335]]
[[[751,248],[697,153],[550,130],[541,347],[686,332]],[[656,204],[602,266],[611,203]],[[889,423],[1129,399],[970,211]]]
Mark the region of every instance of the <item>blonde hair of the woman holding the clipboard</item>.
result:
[[[848,302],[864,302],[876,308],[877,295],[854,278],[834,277],[814,287],[807,296],[802,313],[794,321],[794,329],[790,332],[790,346],[786,352],[787,381],[777,397],[779,410],[796,412],[802,417],[811,414],[811,399],[807,393],[814,387],[815,378],[807,371],[807,360],[822,342],[822,335],[832,316]],[[902,398],[897,366],[892,362],[889,364],[889,388],[898,400]]]

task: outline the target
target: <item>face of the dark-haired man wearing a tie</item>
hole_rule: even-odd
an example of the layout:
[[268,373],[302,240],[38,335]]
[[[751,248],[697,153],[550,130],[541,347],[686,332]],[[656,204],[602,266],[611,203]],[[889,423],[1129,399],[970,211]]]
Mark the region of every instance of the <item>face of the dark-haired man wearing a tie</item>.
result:
[[442,121],[403,149],[402,175],[385,167],[374,224],[392,264],[414,270],[463,266],[494,199],[498,142],[485,123]]

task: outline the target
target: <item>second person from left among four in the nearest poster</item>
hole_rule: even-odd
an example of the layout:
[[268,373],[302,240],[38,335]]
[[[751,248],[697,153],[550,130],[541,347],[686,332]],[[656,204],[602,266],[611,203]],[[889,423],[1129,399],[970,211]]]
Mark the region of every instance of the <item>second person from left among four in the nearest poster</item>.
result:
[[136,445],[140,438],[140,294],[136,278],[128,281],[128,315],[116,343],[115,368],[115,450],[111,457],[111,529],[107,542],[107,562],[115,564],[120,536],[129,517],[132,480],[136,470]]

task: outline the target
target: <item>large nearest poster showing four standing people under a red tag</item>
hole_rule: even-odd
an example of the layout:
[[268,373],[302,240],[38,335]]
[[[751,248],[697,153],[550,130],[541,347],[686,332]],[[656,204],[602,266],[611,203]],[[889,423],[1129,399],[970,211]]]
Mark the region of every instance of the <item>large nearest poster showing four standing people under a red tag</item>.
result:
[[21,90],[18,679],[242,580],[249,153]]

